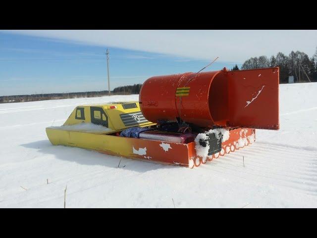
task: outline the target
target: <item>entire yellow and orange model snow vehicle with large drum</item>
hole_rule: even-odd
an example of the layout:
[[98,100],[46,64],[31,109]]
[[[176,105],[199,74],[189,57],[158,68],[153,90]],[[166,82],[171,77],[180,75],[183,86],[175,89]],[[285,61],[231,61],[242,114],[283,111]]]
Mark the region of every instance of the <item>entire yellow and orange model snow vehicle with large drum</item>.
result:
[[53,145],[198,167],[255,142],[255,129],[279,129],[279,68],[155,76],[139,102],[77,106]]

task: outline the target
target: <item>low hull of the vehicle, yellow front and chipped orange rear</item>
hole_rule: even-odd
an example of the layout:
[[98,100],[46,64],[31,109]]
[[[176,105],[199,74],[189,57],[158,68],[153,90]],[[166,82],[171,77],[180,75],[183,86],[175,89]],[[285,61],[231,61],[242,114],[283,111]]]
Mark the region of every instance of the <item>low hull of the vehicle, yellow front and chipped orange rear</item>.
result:
[[[244,133],[242,133],[242,131]],[[164,142],[159,140],[121,137],[110,134],[97,134],[80,131],[67,131],[56,128],[46,128],[47,135],[53,145],[65,145],[96,150],[105,154],[123,156],[131,159],[158,162],[169,165],[179,165],[189,168],[198,167],[202,163],[223,156],[244,145],[253,143],[255,129],[235,128],[229,131],[229,139],[222,142],[220,153],[203,160],[196,155],[195,142],[187,144]],[[250,138],[253,138],[252,140]],[[243,146],[240,140],[243,139]],[[239,145],[239,146],[238,146]]]

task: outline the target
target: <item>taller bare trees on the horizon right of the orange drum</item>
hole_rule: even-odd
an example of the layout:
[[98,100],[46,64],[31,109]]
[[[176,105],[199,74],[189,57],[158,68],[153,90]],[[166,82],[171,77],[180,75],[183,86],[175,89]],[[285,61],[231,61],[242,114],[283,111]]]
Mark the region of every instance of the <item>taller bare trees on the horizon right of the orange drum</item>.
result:
[[[242,64],[241,69],[276,66],[280,68],[280,83],[288,83],[289,76],[294,76],[294,82],[317,82],[317,48],[312,58],[300,51],[292,51],[288,56],[279,52],[276,56],[271,56],[269,59],[266,56],[250,58]],[[235,66],[236,69],[237,65]]]

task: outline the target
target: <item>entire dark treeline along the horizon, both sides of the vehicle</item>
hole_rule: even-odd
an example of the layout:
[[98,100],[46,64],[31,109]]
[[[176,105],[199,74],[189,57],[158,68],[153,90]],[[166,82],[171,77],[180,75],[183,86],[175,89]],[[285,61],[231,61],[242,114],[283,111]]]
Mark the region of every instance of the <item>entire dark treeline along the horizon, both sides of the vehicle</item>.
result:
[[[294,76],[294,82],[317,82],[317,48],[314,57],[300,51],[292,51],[288,56],[279,52],[269,59],[266,56],[254,57],[246,60],[241,69],[255,69],[267,67],[280,67],[280,83],[288,83],[288,77]],[[239,70],[235,65],[231,70]],[[116,87],[112,95],[139,94],[142,84]],[[90,98],[108,95],[108,91],[77,92],[77,93],[50,93],[32,95],[0,96],[0,103],[32,102],[66,98]]]

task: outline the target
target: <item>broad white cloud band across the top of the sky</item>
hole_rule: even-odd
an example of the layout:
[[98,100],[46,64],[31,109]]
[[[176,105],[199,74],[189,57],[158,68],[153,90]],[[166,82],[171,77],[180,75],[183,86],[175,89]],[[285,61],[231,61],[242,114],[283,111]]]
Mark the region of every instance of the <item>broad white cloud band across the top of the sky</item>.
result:
[[242,63],[277,52],[303,51],[310,57],[317,30],[14,30],[16,34],[66,40],[78,44],[117,47],[198,60]]

